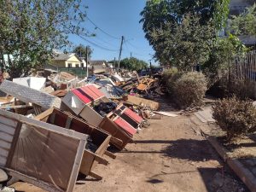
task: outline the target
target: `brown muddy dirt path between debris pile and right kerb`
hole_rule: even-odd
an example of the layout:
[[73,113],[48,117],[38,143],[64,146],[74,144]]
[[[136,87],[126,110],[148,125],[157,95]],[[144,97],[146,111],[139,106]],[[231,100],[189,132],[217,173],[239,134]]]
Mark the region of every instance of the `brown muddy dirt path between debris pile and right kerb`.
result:
[[[87,177],[77,182],[74,191],[247,191],[190,117],[164,117],[150,123],[134,137],[135,143],[116,153],[115,160],[107,157],[109,166],[96,167],[102,181]],[[14,187],[18,191],[44,191],[27,183],[15,183]]]

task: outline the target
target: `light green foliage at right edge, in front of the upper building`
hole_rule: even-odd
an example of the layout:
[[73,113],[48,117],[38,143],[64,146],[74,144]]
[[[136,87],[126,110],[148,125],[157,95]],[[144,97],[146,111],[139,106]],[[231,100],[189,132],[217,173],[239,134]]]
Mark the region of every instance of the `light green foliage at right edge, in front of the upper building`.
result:
[[236,35],[256,37],[256,3],[241,15],[233,15],[230,26],[231,32]]

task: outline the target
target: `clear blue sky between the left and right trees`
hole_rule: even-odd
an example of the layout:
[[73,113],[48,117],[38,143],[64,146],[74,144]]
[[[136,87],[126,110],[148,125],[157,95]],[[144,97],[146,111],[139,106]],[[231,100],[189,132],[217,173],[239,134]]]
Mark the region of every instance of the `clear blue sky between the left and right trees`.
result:
[[[96,33],[96,37],[90,37],[88,40],[100,45],[103,49],[90,44],[84,39],[71,36],[73,44],[90,45],[93,49],[92,60],[113,60],[119,57],[119,47],[121,36],[125,36],[125,44],[121,58],[130,57],[147,61],[152,59],[154,50],[149,46],[148,40],[144,38],[144,32],[140,12],[143,10],[146,0],[84,0],[88,5],[88,18],[96,26],[100,27],[113,37],[101,32],[99,29],[87,20],[84,27],[89,32]],[[107,50],[111,49],[111,50]],[[154,61],[153,61],[154,63]]]

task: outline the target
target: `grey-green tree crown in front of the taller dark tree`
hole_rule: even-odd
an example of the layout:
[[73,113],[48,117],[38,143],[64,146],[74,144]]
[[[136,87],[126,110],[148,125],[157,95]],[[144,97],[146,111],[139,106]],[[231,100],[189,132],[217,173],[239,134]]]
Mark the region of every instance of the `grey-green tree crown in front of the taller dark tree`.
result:
[[156,56],[161,61],[168,59],[182,71],[191,71],[196,64],[208,59],[214,29],[211,25],[201,26],[195,15],[185,15],[180,24],[166,25],[165,30],[152,33]]

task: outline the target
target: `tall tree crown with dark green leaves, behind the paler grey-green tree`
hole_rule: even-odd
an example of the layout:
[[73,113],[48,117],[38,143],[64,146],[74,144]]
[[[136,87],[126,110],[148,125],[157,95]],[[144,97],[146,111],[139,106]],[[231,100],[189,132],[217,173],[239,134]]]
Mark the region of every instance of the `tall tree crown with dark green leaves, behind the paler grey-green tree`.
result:
[[[197,18],[197,28],[212,27],[214,29],[212,38],[216,38],[218,30],[225,25],[229,15],[229,3],[230,0],[148,0],[141,13],[143,16],[141,22],[143,22],[145,37],[156,52],[156,59],[164,64],[170,64],[175,59],[173,49],[165,49],[161,45],[168,44],[170,39],[173,42],[175,36],[178,35],[177,31],[182,32],[180,34],[182,35],[184,31],[181,31],[181,28],[177,30],[178,26],[183,26],[186,22],[195,24],[195,17]],[[195,26],[194,29],[196,29]],[[156,32],[165,33],[165,31],[171,32],[171,34],[167,35],[166,38],[156,38]],[[158,35],[160,36],[160,34]],[[193,32],[189,39],[190,43],[199,44],[201,42],[201,39],[194,36]],[[166,54],[163,55],[163,52]]]

